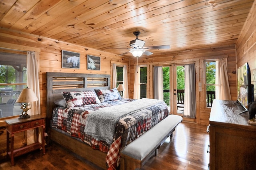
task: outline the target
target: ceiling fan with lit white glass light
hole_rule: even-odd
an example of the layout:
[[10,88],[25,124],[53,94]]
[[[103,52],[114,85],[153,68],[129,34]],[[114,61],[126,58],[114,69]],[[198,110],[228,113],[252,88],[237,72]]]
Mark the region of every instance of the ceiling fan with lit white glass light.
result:
[[146,51],[146,49],[170,49],[170,45],[158,45],[158,46],[148,46],[144,47],[145,41],[138,39],[138,35],[140,35],[140,31],[134,31],[133,34],[136,36],[136,39],[130,41],[130,51],[126,53],[122,53],[120,55],[124,55],[127,53],[132,53],[134,57],[140,57],[144,55],[152,55],[150,51]]

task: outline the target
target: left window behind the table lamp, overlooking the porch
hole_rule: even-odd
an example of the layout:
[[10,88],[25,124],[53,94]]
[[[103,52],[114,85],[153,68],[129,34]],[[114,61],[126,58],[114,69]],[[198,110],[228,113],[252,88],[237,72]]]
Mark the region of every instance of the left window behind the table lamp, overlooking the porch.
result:
[[26,55],[0,52],[0,63],[1,119],[21,114],[20,104],[15,101],[26,88]]

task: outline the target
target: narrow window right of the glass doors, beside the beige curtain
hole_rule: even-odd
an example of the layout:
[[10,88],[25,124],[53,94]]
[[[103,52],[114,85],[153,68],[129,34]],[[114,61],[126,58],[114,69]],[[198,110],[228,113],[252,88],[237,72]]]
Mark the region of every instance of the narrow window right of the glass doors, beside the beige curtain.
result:
[[212,107],[215,99],[216,61],[205,62],[206,107]]

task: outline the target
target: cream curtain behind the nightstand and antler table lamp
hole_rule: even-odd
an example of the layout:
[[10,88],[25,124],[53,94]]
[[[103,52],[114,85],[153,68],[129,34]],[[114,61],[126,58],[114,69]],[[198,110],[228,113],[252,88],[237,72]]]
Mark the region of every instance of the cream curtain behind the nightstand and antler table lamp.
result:
[[[31,88],[36,94],[38,101],[30,102],[31,109],[28,110],[29,115],[40,114],[40,88],[39,88],[39,71],[36,59],[39,59],[39,53],[34,51],[28,51],[27,53],[27,86]],[[27,131],[27,144],[35,142],[34,129]],[[40,134],[42,132],[40,131]],[[41,142],[41,135],[39,135],[39,141]]]

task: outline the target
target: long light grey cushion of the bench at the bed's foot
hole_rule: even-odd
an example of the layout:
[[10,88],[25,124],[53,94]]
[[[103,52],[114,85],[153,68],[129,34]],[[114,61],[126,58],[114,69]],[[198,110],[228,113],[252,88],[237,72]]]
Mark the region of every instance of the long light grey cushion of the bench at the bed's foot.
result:
[[179,115],[168,115],[138,139],[127,145],[122,154],[128,155],[134,159],[142,160],[153,149],[158,147],[163,139],[182,121]]

